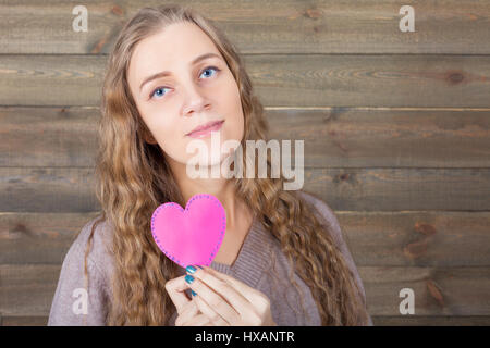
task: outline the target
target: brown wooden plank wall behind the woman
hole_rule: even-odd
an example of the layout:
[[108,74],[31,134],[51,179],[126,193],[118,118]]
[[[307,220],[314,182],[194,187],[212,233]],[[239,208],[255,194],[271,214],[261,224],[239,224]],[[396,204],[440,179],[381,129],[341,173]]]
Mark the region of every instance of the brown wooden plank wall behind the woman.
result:
[[[47,323],[73,235],[100,208],[107,54],[163,2],[86,0],[87,33],[72,29],[78,1],[0,3],[3,325]],[[192,3],[241,50],[271,136],[305,140],[304,189],[335,211],[375,324],[490,324],[490,2]],[[399,29],[403,4],[414,33]]]

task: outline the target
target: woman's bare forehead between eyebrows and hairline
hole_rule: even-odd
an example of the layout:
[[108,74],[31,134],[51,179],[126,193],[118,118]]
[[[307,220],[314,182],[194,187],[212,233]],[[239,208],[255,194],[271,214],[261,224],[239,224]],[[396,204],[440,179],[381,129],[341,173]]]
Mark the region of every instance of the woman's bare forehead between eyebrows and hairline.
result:
[[130,61],[128,77],[139,82],[150,74],[191,62],[197,55],[213,52],[221,57],[212,40],[194,23],[174,23],[139,41]]

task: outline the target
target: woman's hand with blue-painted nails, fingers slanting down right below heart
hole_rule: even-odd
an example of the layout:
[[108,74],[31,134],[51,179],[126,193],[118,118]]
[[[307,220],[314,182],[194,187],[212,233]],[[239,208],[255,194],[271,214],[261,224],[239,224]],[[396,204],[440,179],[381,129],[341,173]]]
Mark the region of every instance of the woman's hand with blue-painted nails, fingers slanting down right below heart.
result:
[[216,326],[277,326],[266,295],[212,270],[187,266],[187,286],[197,293],[198,310]]

